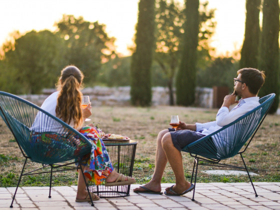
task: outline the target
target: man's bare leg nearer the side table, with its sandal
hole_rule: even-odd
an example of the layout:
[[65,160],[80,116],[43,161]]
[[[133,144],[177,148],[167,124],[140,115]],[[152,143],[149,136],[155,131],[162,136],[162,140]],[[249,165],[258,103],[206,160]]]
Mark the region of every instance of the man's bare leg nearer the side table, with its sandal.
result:
[[[150,179],[150,181],[146,184],[144,184],[143,186],[155,191],[155,192],[159,192],[161,191],[161,178],[167,163],[167,158],[165,155],[165,152],[162,148],[161,145],[161,140],[162,137],[165,133],[168,133],[168,130],[161,130],[158,135],[157,135],[157,139],[156,139],[156,152],[155,152],[155,167],[154,167],[154,172],[153,172],[153,176]],[[144,188],[142,187],[137,187],[135,189],[133,189],[133,191],[145,191]]]

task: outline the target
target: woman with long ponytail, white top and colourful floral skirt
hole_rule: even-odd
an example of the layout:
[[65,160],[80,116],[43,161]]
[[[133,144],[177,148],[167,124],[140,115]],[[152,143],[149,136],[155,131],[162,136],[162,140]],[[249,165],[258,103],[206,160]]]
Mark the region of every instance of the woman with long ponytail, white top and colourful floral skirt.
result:
[[[103,180],[106,181],[106,185],[110,186],[135,183],[133,177],[125,176],[113,170],[106,148],[96,129],[91,126],[82,127],[84,119],[91,115],[90,104],[85,108],[81,108],[82,93],[80,88],[82,86],[82,79],[83,74],[76,66],[66,66],[61,70],[57,91],[45,99],[41,108],[79,130],[92,142],[91,154],[88,155],[90,158],[86,162],[81,163],[86,179],[89,178],[96,185],[100,184]],[[51,125],[48,126],[51,127]],[[92,192],[91,198],[93,200],[99,199]],[[79,169],[76,202],[83,201],[90,201],[90,197],[86,191],[82,171]]]

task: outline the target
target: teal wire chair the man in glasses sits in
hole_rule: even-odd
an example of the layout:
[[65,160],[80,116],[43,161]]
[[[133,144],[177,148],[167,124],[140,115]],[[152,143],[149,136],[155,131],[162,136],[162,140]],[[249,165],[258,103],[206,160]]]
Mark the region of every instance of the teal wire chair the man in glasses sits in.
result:
[[[255,192],[255,196],[257,197],[257,193],[255,191],[242,153],[247,149],[257,129],[264,120],[269,108],[274,101],[274,98],[274,93],[260,98],[260,105],[258,105],[253,110],[247,112],[228,125],[221,127],[215,132],[205,135],[199,140],[186,145],[182,149],[182,151],[189,152],[190,156],[194,157],[190,181],[192,183],[195,170],[192,200],[194,200],[198,164],[245,169]],[[246,142],[247,144],[244,146]],[[244,167],[219,163],[220,160],[233,157],[236,154],[240,154]]]

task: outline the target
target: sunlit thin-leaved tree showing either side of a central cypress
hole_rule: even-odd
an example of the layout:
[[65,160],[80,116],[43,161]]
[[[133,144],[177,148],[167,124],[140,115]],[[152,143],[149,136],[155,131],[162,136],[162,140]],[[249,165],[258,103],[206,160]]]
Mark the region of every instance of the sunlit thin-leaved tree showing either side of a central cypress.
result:
[[[169,104],[174,104],[173,80],[175,72],[180,62],[181,45],[184,30],[182,25],[185,22],[184,8],[173,0],[159,0],[156,4],[156,50],[154,59],[161,67],[167,87],[169,89]],[[205,60],[209,56],[208,38],[213,33],[215,22],[213,9],[207,9],[208,2],[201,4],[199,9],[199,51],[200,60]]]

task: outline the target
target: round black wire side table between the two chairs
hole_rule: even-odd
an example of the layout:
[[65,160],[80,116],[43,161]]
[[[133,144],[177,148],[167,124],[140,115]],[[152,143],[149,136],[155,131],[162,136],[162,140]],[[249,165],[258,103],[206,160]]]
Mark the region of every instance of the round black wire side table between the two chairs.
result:
[[[132,176],[137,141],[103,141],[114,170]],[[88,181],[89,190],[99,197],[125,197],[129,195],[130,184],[122,186],[105,186],[105,181],[96,186]]]

